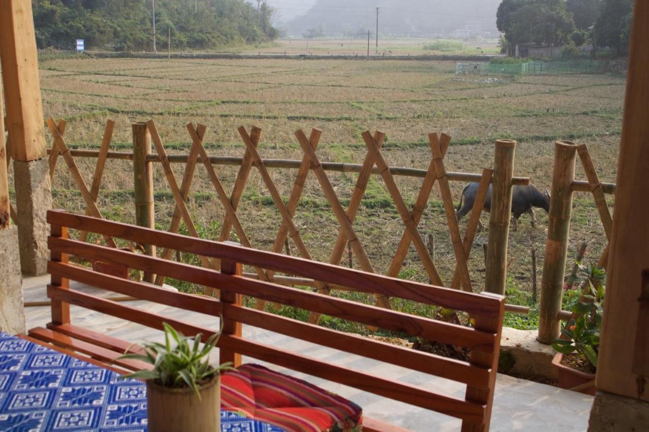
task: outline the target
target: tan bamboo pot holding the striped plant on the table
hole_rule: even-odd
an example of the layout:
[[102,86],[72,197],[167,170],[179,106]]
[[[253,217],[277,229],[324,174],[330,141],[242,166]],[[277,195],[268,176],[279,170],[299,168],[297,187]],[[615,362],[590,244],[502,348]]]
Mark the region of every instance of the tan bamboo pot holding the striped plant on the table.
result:
[[194,390],[169,389],[147,381],[148,430],[151,432],[220,432],[221,376]]

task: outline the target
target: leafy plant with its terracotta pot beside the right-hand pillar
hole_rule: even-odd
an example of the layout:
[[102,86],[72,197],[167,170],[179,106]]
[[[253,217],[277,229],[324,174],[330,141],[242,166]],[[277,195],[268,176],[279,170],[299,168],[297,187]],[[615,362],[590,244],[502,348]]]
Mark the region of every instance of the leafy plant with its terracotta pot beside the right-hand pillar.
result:
[[571,308],[576,319],[565,324],[561,338],[552,344],[557,352],[552,363],[559,387],[594,395],[606,273],[594,265],[580,265],[580,270],[584,288]]

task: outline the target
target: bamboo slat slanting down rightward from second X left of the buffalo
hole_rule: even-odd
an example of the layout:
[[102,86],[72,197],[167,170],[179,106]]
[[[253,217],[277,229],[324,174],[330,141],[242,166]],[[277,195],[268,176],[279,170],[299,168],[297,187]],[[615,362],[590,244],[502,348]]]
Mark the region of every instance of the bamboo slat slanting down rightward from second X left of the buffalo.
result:
[[412,242],[415,244],[419,258],[421,258],[421,261],[424,265],[424,269],[426,269],[430,280],[432,280],[435,285],[443,286],[443,282],[439,277],[437,269],[435,268],[433,259],[430,258],[428,249],[426,249],[426,243],[424,243],[424,240],[421,238],[421,234],[419,234],[417,224],[413,220],[412,213],[410,212],[410,210],[408,210],[408,206],[406,206],[406,203],[403,200],[403,197],[397,187],[397,183],[395,183],[395,179],[390,173],[386,160],[384,160],[383,155],[381,154],[381,150],[378,148],[376,141],[374,141],[374,138],[368,131],[363,132],[362,135],[363,139],[365,140],[365,144],[367,145],[367,149],[369,149],[369,152],[372,154],[374,163],[376,164],[376,167],[378,167],[381,176],[383,177],[387,191],[390,193],[392,200],[397,207],[397,211],[401,217],[401,220],[404,222],[406,230],[410,232],[410,237],[412,239]]

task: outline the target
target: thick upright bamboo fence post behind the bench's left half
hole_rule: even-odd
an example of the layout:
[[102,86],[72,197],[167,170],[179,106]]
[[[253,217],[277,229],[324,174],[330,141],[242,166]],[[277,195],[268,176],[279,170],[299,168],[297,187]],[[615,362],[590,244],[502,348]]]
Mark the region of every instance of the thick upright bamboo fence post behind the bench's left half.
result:
[[[133,180],[135,189],[135,223],[145,228],[155,228],[153,207],[153,167],[147,162],[151,153],[151,134],[147,123],[133,123]],[[156,246],[143,245],[145,253],[155,256]],[[145,272],[144,282],[153,283],[155,275]]]

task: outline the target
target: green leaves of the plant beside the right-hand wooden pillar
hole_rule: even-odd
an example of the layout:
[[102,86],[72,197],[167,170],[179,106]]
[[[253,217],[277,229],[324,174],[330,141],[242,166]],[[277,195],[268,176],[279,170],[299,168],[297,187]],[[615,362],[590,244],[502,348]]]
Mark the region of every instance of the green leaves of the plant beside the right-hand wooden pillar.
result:
[[[593,271],[593,276],[602,273],[603,270],[598,269]],[[578,352],[596,368],[604,313],[604,284],[594,285],[593,279],[587,280],[587,292],[585,290],[580,301],[574,304],[572,312],[580,316],[570,320],[561,330],[568,339],[557,339],[552,348],[561,354]]]

